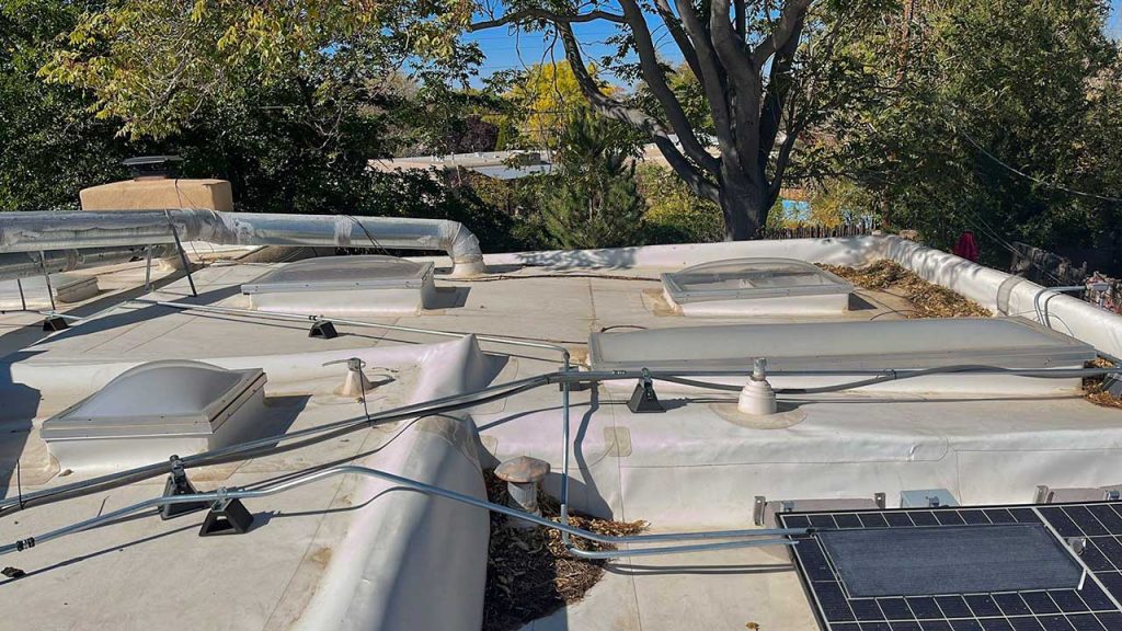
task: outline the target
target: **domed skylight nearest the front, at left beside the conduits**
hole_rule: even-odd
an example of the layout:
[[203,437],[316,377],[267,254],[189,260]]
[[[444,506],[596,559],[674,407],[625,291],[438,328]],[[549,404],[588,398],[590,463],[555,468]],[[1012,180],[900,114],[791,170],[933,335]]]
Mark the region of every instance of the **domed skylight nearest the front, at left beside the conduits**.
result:
[[64,467],[121,468],[237,442],[265,418],[266,376],[202,362],[135,366],[43,422]]

